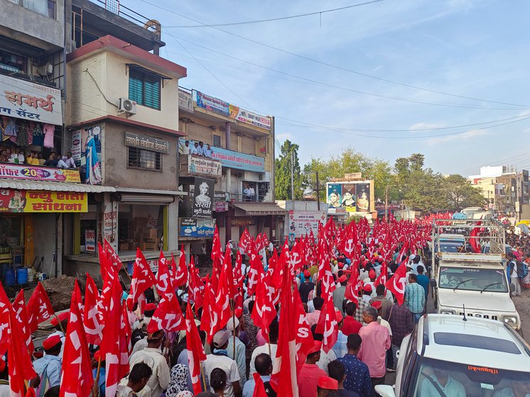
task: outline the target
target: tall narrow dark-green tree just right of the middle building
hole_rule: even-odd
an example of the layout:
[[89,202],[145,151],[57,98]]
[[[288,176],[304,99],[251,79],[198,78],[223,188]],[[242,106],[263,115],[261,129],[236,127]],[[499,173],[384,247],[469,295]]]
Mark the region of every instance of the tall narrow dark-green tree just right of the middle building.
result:
[[[280,148],[280,157],[275,164],[274,185],[277,200],[301,200],[303,198],[302,173],[298,162],[299,146],[290,140],[283,142]],[[291,153],[294,155],[294,198],[291,197]]]

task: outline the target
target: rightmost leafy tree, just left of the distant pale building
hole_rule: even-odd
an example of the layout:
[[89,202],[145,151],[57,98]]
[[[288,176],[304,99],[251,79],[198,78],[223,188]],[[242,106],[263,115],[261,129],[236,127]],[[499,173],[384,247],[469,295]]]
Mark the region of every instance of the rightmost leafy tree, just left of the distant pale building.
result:
[[443,181],[448,200],[448,209],[460,211],[466,207],[480,207],[486,203],[482,191],[472,186],[471,182],[462,175],[453,174]]

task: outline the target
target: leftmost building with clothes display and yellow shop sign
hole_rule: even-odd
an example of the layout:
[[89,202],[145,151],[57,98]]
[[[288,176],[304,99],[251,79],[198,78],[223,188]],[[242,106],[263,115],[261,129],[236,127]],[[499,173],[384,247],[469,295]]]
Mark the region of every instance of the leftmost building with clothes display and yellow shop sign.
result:
[[82,203],[67,192],[79,174],[34,157],[64,145],[65,3],[0,0],[0,10],[1,276],[31,264],[60,274],[63,225]]

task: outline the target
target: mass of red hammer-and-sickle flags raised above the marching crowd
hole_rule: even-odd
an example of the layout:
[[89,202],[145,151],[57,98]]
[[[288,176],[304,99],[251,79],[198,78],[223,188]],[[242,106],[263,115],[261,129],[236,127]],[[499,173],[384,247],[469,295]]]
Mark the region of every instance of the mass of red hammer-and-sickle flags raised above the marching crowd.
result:
[[[443,214],[440,217],[449,216]],[[102,291],[98,291],[90,275],[87,275],[84,299],[77,281],[72,291],[64,332],[60,396],[97,394],[89,344],[99,347],[96,379],[104,362],[106,395],[116,395],[119,381],[131,370],[129,312],[139,310],[141,313],[146,291],[154,289],[158,305],[147,330],[149,334],[159,331],[185,333],[194,393],[208,388],[201,364],[206,355],[199,329],[206,332],[207,342],[212,342],[216,332],[226,328],[229,322],[233,323],[232,328],[236,327],[235,319],[244,313],[244,301],[251,299],[254,310],[250,317],[266,340],[269,340],[271,322],[278,319],[278,347],[271,357],[274,362],[271,386],[276,391],[281,390],[281,396],[296,397],[297,373],[314,344],[313,333],[305,318],[306,309],[298,293],[297,278],[301,278],[304,271],[315,269],[315,279],[320,283],[320,296],[324,301],[315,332],[323,335],[322,348],[328,353],[337,341],[337,323],[342,319],[333,304],[333,292],[337,286],[335,259],[342,257],[348,262],[344,268],[344,274],[348,276],[347,282],[343,283],[345,299],[353,302],[361,299],[363,281],[359,271],[364,262],[380,258],[379,276],[374,286],[386,286],[402,304],[407,258],[427,245],[431,222],[429,218],[416,222],[398,222],[390,218],[387,223],[375,220],[369,225],[363,218],[359,223],[337,226],[330,218],[320,226],[316,237],[311,232],[292,246],[286,240],[279,254],[276,249],[271,251],[268,261],[262,257],[264,248],[269,246],[265,234],[253,238],[248,230],[244,230],[237,250],[232,252],[227,245],[223,252],[216,228],[211,274],[201,278],[193,257],[186,264],[183,250],[180,250],[178,262],[173,255],[170,260],[166,259],[161,252],[158,271],[153,274],[138,249],[126,300],[122,299],[124,291],[119,281],[119,272],[124,266],[112,246],[104,241],[98,247]],[[397,257],[402,263],[391,274],[389,264],[394,252],[399,252]],[[244,261],[243,256],[248,261]],[[235,258],[233,262],[232,258]],[[187,300],[183,302],[184,294]],[[23,291],[10,302],[0,284],[0,357],[7,355],[8,358],[12,396],[33,393],[29,382],[37,374],[31,362],[31,334],[40,323],[53,317],[55,312],[42,284],[37,284],[27,305]],[[200,327],[195,318],[200,320]],[[263,382],[261,379],[255,381],[254,396],[265,396]]]

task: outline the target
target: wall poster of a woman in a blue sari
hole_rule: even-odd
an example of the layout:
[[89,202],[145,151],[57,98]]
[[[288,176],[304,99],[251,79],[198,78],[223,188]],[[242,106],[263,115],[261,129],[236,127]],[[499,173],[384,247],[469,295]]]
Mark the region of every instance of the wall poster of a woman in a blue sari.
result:
[[[92,125],[81,130],[81,167],[80,174],[84,184],[102,184],[101,142],[103,129]],[[72,155],[73,157],[73,155]]]

